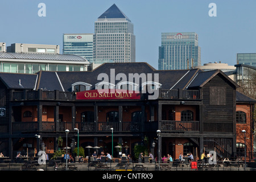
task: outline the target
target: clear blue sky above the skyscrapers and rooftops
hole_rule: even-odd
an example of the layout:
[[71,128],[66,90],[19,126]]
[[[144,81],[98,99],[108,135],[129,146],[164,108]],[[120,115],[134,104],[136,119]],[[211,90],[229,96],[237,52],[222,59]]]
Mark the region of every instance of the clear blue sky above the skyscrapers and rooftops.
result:
[[[41,2],[46,17],[38,16]],[[212,2],[216,17],[208,15]],[[136,61],[156,69],[162,32],[196,32],[202,65],[234,65],[236,53],[256,52],[255,0],[1,0],[0,42],[56,44],[62,50],[63,34],[94,33],[94,22],[113,3],[134,24]]]

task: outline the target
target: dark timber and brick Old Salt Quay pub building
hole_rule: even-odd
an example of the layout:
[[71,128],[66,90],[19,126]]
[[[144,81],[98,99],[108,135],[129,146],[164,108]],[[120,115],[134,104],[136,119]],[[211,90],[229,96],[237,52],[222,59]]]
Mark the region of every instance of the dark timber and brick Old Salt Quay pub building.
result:
[[[243,129],[246,151],[253,151],[255,100],[236,88],[220,70],[158,71],[147,63],[105,63],[87,72],[0,73],[0,151],[11,159],[27,151],[52,155],[66,147],[67,137],[69,152],[79,139],[80,147],[98,146],[98,152],[110,154],[113,142],[132,156],[141,144],[158,156],[160,144],[160,155],[174,159],[180,152],[203,151],[231,158],[237,143],[243,155]],[[85,156],[88,152],[93,151],[85,148]],[[116,148],[113,152],[117,157]]]

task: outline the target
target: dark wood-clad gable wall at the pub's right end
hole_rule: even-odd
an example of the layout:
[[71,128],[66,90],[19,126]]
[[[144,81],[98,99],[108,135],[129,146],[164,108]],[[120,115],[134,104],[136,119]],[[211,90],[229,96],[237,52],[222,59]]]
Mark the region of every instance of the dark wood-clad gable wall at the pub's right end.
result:
[[[213,93],[219,92],[217,96],[210,95],[210,89]],[[216,75],[203,87],[203,122],[204,123],[233,123],[233,101],[234,86],[228,84],[221,75]],[[224,94],[225,96],[222,96]],[[216,98],[215,98],[216,97]],[[224,100],[225,101],[220,101]],[[215,103],[216,105],[213,105]],[[231,132],[231,131],[230,131]]]

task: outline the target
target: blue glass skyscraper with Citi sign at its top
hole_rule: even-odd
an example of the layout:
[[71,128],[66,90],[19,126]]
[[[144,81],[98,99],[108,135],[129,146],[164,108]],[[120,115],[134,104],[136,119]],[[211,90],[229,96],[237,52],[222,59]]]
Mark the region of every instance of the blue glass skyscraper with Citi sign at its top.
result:
[[201,65],[201,48],[195,32],[162,33],[158,69],[191,69]]

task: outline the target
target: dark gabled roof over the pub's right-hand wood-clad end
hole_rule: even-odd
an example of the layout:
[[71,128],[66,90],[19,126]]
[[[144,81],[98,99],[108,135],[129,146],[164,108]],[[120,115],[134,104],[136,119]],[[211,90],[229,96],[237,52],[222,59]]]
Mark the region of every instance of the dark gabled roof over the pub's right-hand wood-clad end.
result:
[[199,74],[196,75],[196,77],[192,80],[192,82],[188,85],[189,88],[194,88],[194,87],[203,87],[209,80],[211,80],[214,76],[217,74],[221,74],[224,76],[227,80],[229,80],[236,88],[239,86],[237,85],[236,82],[231,80],[228,76],[225,75],[220,69],[216,69],[213,71],[207,71],[207,72],[200,72]]

